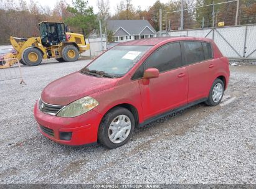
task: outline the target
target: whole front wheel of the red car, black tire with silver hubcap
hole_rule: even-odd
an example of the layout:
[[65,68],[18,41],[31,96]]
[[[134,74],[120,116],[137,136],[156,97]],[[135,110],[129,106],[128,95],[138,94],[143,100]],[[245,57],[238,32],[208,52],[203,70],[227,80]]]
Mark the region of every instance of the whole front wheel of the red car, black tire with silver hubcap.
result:
[[105,114],[100,123],[98,142],[108,149],[115,149],[131,139],[134,129],[133,114],[126,108],[113,108]]

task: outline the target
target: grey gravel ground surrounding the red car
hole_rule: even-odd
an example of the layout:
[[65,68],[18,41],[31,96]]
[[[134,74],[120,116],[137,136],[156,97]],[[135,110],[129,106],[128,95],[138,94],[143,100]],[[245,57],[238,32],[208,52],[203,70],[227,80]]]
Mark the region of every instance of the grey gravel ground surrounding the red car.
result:
[[256,183],[256,66],[231,66],[222,103],[137,129],[128,144],[69,147],[37,131],[32,108],[52,80],[88,60],[23,67],[0,81],[0,183]]

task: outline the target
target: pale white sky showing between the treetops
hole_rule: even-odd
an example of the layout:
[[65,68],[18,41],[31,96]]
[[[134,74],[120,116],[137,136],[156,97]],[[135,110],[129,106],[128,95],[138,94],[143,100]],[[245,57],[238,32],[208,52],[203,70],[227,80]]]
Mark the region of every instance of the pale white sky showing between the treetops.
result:
[[[29,3],[30,0],[26,0],[27,3]],[[57,2],[57,0],[34,0],[35,2],[39,2],[39,4],[41,4],[42,6],[49,6],[49,7],[54,7],[55,2]],[[97,0],[87,0],[88,4],[90,6],[93,6],[93,11],[95,13],[98,12],[98,8],[97,8]],[[115,9],[116,9],[116,4],[118,4],[120,2],[120,0],[109,0],[110,1],[110,13],[113,15],[115,14]],[[169,0],[160,0],[160,2],[166,3]],[[72,4],[72,0],[66,0],[66,2],[68,4]],[[149,6],[153,6],[154,2],[156,2],[156,0],[132,0],[131,3],[133,4],[133,6],[135,8],[137,8],[138,6],[141,6],[141,10],[144,9],[148,9]]]

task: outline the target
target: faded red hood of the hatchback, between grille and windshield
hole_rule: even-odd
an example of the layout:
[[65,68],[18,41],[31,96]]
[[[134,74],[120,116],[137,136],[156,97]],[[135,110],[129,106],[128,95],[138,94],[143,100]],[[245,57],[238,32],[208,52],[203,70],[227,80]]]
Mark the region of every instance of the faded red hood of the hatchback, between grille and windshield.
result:
[[107,90],[115,86],[117,81],[116,78],[83,75],[77,71],[52,81],[42,91],[41,99],[49,104],[67,105],[90,94]]

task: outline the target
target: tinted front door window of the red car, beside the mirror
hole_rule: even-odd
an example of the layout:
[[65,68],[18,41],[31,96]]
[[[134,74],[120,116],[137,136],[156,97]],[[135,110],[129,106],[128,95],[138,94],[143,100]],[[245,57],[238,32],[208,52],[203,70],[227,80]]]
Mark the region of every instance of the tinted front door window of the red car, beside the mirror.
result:
[[157,68],[159,72],[172,70],[183,66],[181,58],[181,45],[179,42],[164,45],[158,48],[144,62],[144,69]]

